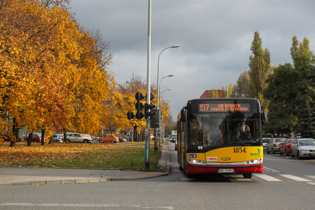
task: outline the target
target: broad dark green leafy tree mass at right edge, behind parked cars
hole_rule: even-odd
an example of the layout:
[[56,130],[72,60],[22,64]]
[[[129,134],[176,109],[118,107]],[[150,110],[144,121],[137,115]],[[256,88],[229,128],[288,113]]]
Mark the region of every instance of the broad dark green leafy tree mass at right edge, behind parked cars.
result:
[[315,67],[309,41],[292,39],[293,65],[279,65],[266,82],[264,97],[271,102],[267,130],[271,133],[297,132],[302,137],[314,136]]

